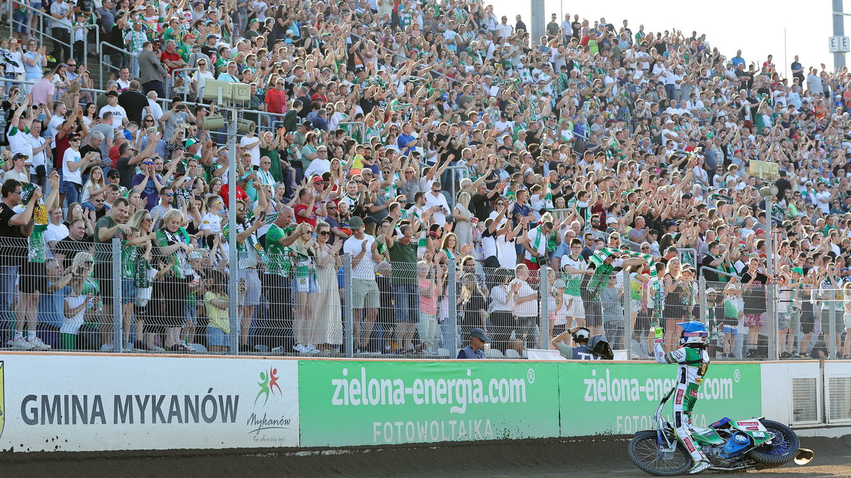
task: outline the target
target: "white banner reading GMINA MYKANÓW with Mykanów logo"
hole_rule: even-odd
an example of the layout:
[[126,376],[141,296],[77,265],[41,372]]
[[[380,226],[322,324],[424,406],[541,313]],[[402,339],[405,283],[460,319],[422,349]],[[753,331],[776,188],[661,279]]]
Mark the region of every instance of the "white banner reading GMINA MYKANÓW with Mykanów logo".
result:
[[297,447],[298,361],[0,354],[0,450]]

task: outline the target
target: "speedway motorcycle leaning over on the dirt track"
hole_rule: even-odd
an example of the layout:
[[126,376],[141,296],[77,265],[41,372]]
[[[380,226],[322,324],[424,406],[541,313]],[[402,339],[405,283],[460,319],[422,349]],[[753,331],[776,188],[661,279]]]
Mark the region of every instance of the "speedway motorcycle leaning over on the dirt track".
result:
[[[662,408],[674,390],[665,395],[656,409],[656,429],[639,431],[630,441],[632,462],[650,475],[683,475],[693,464],[691,455],[677,440],[674,426],[662,415]],[[694,444],[709,458],[710,469],[717,471],[774,468],[793,459],[796,464],[808,464],[814,456],[812,450],[800,447],[797,434],[789,427],[764,418],[723,418],[709,428],[691,430]]]

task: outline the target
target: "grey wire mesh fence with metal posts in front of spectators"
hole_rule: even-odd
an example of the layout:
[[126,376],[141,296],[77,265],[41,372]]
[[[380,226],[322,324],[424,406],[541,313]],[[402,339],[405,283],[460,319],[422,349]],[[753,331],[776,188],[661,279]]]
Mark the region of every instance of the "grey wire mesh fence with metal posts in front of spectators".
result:
[[486,356],[519,359],[577,346],[569,331],[586,327],[621,357],[641,359],[652,355],[655,327],[665,329],[672,349],[677,323],[696,320],[710,330],[714,360],[851,356],[851,294],[829,280],[813,287],[746,275],[707,282],[564,261],[559,270],[551,262],[492,268],[422,251],[391,261],[389,251],[346,252],[311,234],[254,259],[241,250],[231,268],[220,248],[180,230],[113,227],[104,241],[75,230],[59,240],[37,232],[0,241],[3,344],[455,358],[481,329]]

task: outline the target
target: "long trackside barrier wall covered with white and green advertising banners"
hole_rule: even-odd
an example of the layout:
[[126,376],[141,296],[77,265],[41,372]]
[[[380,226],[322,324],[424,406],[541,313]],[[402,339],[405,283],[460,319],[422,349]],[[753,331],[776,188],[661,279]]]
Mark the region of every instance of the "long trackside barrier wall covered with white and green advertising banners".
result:
[[[638,361],[0,354],[0,449],[356,447],[630,435],[674,386]],[[694,424],[851,422],[851,362],[713,363]],[[826,413],[825,413],[826,410]]]

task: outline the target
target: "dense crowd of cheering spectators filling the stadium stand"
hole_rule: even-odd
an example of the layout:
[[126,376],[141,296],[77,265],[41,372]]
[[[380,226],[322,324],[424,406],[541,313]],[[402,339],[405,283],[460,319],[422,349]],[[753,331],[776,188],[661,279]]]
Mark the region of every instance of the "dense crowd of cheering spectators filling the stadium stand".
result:
[[[238,270],[243,350],[340,351],[347,253],[360,352],[433,353],[451,343],[450,310],[465,340],[481,328],[491,348],[523,350],[543,299],[550,336],[617,336],[626,320],[639,342],[661,323],[672,344],[676,322],[709,320],[716,356],[759,356],[774,300],[782,356],[823,345],[829,310],[851,355],[848,71],[796,56],[782,77],[770,55],[728,58],[696,31],[575,14],[532,38],[519,15],[476,0],[43,8],[56,35],[72,18],[97,25],[118,70],[95,97],[84,48],[48,54],[17,24],[0,40],[5,77],[32,82],[7,83],[3,102],[0,231],[20,244],[3,258],[0,318],[16,347],[48,347],[39,330],[57,329],[73,348],[81,326],[100,332],[87,344],[113,347],[104,317],[119,278],[100,244],[117,237],[125,350],[225,350]],[[251,86],[258,133],[238,141],[237,185],[223,137],[202,128],[216,111],[209,79]],[[750,174],[752,160],[779,178]],[[29,184],[51,195],[41,255],[19,196],[40,196]],[[28,301],[13,299],[18,277]]]

